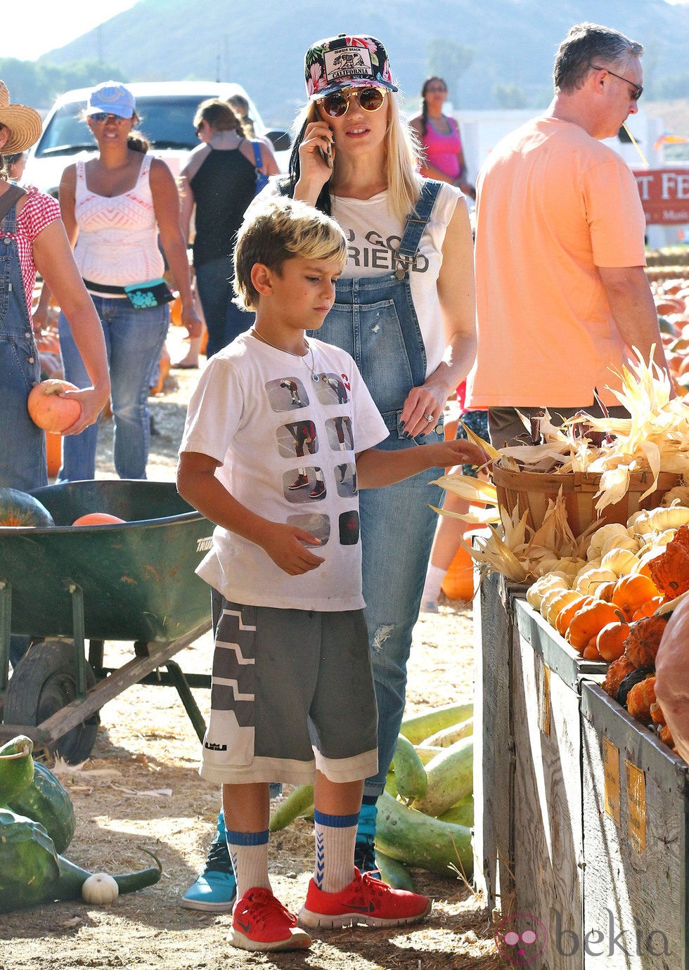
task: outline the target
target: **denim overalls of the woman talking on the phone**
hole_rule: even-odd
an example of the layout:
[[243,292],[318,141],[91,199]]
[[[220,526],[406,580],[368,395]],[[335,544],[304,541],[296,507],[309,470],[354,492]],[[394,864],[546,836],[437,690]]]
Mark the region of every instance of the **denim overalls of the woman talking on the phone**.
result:
[[[390,432],[377,446],[386,450],[443,439],[442,422],[430,434],[416,438],[401,437],[399,428],[410,389],[423,384],[426,377],[426,351],[411,299],[409,267],[440,188],[441,182],[424,182],[400,242],[398,269],[382,276],[338,279],[335,306],[313,334],[342,347],[356,361]],[[438,522],[429,503],[443,502],[443,490],[428,483],[443,472],[428,469],[395,485],[359,493],[364,598],[378,707],[378,774],[367,780],[367,795],[383,790],[402,722],[411,630]]]

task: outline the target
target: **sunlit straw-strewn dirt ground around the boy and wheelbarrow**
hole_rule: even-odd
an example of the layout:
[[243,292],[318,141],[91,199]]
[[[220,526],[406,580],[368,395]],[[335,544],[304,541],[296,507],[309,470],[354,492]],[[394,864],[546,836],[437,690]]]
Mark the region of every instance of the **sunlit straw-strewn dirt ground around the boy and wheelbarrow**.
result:
[[[181,332],[169,340],[173,360]],[[186,401],[198,372],[172,372],[152,400],[148,477],[174,478]],[[104,423],[99,477],[114,477],[112,432]],[[206,634],[176,660],[187,672],[208,673]],[[106,645],[106,665],[133,656],[131,644]],[[414,631],[408,712],[471,697],[472,617],[461,602],[422,614]],[[207,716],[210,692],[195,690]],[[229,918],[184,910],[180,894],[203,865],[218,808],[218,792],[197,774],[199,742],[173,688],[136,686],[101,711],[92,756],[80,766],[58,764],[74,800],[77,831],[69,858],[91,871],[124,872],[150,863],[163,876],[153,887],[120,896],[114,905],[77,902],[16,911],[0,918],[0,970],[46,968],[274,967],[318,970],[441,970],[507,967],[497,953],[484,902],[452,872],[446,878],[412,870],[419,891],[434,897],[428,921],[400,931],[364,927],[317,932],[310,951],[245,954],[226,943]],[[285,793],[289,789],[285,787]],[[273,837],[274,889],[292,910],[303,902],[312,869],[312,826],[298,819]]]

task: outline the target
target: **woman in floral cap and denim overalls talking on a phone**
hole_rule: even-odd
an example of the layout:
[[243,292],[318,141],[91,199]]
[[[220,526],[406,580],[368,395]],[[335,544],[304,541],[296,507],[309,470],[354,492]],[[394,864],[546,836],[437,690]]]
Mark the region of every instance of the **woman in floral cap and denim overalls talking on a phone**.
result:
[[[466,200],[417,174],[380,41],[344,34],[318,41],[305,68],[309,101],[281,190],[332,214],[349,241],[335,306],[317,336],[356,361],[389,431],[379,447],[423,447],[443,436],[444,404],[476,352]],[[378,708],[378,771],[366,782],[357,832],[361,871],[376,867],[376,801],[405,708],[411,630],[437,521],[429,505],[443,501],[428,483],[442,473],[431,469],[359,497]],[[215,859],[219,901],[216,871]]]

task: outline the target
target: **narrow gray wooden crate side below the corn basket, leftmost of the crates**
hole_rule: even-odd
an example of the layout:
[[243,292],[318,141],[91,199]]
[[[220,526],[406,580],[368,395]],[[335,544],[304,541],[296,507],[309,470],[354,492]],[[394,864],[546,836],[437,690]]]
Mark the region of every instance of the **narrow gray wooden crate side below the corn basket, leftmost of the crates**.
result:
[[474,881],[489,911],[509,911],[514,891],[512,601],[527,588],[493,573],[474,599]]

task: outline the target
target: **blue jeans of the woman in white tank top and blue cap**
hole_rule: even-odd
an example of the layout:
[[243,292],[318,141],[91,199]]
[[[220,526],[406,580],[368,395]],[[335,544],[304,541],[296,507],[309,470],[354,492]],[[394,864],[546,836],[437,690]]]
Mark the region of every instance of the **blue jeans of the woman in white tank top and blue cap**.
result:
[[[170,324],[167,304],[134,309],[128,300],[92,297],[103,324],[112,385],[115,422],[115,471],[120,478],[146,478],[150,423],[149,380],[165,343]],[[72,337],[69,324],[60,313],[60,351],[65,378],[77,387],[88,387],[90,379]],[[81,435],[69,435],[62,442],[59,482],[93,478],[96,470],[98,424]]]

